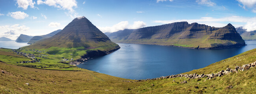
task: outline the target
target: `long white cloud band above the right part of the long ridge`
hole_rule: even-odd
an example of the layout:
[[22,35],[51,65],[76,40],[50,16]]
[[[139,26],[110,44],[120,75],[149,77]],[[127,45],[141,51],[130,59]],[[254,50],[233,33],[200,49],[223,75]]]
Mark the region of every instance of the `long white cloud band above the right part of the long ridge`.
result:
[[[243,17],[243,16],[228,16],[228,17],[222,17],[222,18],[213,18],[213,17],[201,17],[200,19],[182,19],[182,20],[155,20],[153,22],[155,23],[162,23],[162,24],[170,24],[174,22],[189,22],[194,23],[197,22],[199,24],[206,24],[209,26],[214,27],[224,27],[227,25],[227,23],[242,23],[245,24],[244,28],[248,31],[254,31],[254,26],[256,24],[252,22],[256,22],[256,17]],[[226,24],[224,24],[226,23]],[[243,26],[243,25],[235,25],[237,26]],[[250,28],[251,27],[251,28]],[[256,28],[255,28],[256,30]]]

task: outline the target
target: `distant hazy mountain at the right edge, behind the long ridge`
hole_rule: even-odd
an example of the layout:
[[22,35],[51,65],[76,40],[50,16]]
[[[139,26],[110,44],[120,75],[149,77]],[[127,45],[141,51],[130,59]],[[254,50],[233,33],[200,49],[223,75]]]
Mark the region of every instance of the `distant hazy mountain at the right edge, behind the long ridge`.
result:
[[243,40],[256,40],[256,31],[247,32],[246,29],[243,29],[243,27],[237,27],[235,29]]

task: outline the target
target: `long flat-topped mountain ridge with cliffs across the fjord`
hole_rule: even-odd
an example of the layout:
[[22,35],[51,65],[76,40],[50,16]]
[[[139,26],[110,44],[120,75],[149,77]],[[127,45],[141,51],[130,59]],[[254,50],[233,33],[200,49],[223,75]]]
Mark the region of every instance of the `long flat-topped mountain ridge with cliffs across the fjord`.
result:
[[231,24],[222,28],[204,24],[175,22],[140,29],[125,29],[108,34],[116,43],[168,45],[192,49],[220,49],[245,45]]

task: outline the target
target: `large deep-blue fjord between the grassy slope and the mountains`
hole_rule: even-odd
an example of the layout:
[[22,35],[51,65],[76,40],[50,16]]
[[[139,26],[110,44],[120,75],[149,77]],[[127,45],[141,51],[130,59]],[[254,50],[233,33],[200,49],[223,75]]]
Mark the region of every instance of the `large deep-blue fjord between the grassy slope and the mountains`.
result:
[[256,48],[256,41],[229,49],[186,49],[160,45],[118,43],[121,49],[77,67],[127,79],[147,79],[200,69]]

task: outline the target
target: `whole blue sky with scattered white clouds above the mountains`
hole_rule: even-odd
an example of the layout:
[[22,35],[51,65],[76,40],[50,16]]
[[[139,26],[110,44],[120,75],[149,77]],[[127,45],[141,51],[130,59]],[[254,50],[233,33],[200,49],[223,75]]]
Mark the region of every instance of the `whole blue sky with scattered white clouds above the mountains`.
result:
[[38,36],[85,16],[103,33],[187,21],[256,30],[256,0],[0,0],[0,37]]

